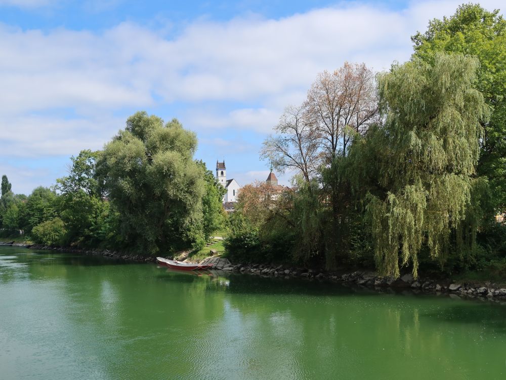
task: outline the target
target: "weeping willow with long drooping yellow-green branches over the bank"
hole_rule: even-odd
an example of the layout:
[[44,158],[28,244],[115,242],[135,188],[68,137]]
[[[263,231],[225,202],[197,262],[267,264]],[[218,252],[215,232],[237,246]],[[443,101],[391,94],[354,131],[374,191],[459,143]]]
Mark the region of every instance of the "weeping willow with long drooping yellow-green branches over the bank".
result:
[[399,265],[411,263],[417,277],[423,246],[444,261],[453,239],[462,239],[456,232],[472,212],[480,121],[488,117],[472,87],[478,66],[472,57],[437,54],[431,65],[415,59],[378,78],[383,123],[357,149],[372,160],[366,219],[384,275],[399,277]]

